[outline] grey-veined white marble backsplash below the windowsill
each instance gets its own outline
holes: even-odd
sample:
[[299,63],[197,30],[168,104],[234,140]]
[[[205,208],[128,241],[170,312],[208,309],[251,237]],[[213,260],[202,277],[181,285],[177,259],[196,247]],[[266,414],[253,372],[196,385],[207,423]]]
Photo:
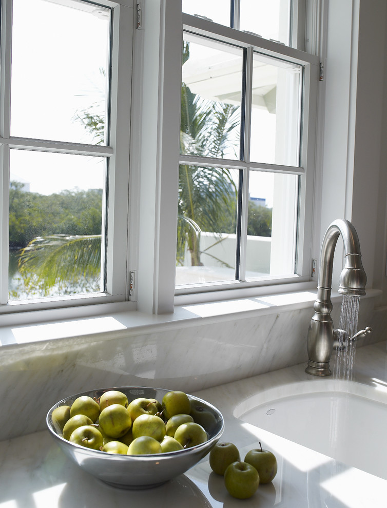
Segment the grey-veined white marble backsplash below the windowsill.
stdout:
[[[359,346],[385,340],[385,309],[360,306],[359,329],[374,333]],[[338,320],[334,309],[334,322]],[[48,409],[88,389],[158,386],[188,393],[307,362],[313,309],[230,318],[101,341],[55,340],[0,348],[0,440],[45,428]]]

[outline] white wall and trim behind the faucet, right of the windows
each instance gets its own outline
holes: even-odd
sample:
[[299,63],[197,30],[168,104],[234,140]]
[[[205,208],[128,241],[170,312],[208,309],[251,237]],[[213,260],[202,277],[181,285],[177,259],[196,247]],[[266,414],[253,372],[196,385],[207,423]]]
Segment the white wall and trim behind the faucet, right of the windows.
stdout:
[[[320,88],[325,123],[317,178],[322,207],[319,245],[333,220],[350,220],[358,232],[367,287],[374,288],[385,284],[386,7],[385,0],[325,2],[328,36]],[[339,241],[334,287],[341,270],[340,246]],[[318,248],[314,246],[315,252]],[[383,301],[386,298],[385,294]]]

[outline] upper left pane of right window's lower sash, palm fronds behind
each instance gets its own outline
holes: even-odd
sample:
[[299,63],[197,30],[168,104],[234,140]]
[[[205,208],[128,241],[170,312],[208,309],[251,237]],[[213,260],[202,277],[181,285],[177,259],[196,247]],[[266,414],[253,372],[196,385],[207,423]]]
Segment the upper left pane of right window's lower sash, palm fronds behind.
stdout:
[[239,159],[242,50],[186,35],[183,49],[181,152]]

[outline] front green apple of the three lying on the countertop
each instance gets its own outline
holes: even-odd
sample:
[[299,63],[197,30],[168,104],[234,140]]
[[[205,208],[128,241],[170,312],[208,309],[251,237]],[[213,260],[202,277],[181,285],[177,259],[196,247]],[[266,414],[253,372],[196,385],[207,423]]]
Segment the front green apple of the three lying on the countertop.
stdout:
[[248,499],[258,489],[259,474],[247,462],[232,462],[224,473],[224,484],[228,493],[237,499]]

